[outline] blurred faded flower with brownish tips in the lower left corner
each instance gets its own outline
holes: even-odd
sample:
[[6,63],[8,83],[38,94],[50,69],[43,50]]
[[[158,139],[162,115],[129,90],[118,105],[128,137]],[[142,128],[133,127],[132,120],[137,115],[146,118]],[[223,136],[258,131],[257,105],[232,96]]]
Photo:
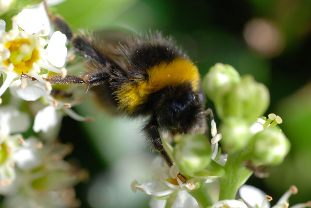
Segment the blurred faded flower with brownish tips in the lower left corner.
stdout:
[[[79,207],[80,202],[75,198],[72,186],[84,180],[87,173],[63,160],[72,146],[59,143],[43,146],[39,140],[29,139],[28,153],[25,150],[19,152],[19,156],[26,158],[23,159],[24,164],[18,164],[21,168],[17,175],[18,188],[14,194],[5,197],[4,207]],[[29,157],[29,154],[33,155]],[[31,161],[35,165],[30,164]],[[31,167],[26,167],[29,164]]]

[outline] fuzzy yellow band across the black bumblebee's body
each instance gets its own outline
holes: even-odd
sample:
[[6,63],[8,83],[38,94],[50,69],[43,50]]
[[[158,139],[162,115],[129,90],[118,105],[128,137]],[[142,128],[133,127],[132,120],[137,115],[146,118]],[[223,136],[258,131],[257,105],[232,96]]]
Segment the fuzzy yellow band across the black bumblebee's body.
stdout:
[[122,84],[121,88],[116,91],[120,109],[132,113],[137,106],[146,102],[150,94],[167,86],[189,82],[192,84],[193,91],[197,91],[200,87],[200,74],[197,66],[182,58],[153,66],[147,74],[149,76],[147,80],[134,78],[131,82]]

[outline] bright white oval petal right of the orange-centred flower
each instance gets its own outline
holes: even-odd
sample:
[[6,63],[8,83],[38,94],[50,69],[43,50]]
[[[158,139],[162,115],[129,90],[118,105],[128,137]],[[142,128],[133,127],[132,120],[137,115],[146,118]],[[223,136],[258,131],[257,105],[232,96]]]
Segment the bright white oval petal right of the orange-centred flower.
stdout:
[[45,51],[47,53],[46,60],[48,60],[55,67],[62,67],[65,64],[67,56],[66,35],[56,31],[53,33],[48,46]]

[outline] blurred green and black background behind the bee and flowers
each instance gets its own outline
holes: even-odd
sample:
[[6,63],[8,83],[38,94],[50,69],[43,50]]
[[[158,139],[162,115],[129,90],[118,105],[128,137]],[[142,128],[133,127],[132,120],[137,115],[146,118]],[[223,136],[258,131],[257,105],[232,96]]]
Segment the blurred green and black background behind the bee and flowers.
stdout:
[[[222,62],[263,82],[271,93],[267,114],[283,118],[280,126],[292,149],[281,166],[267,169],[270,178],[252,177],[248,184],[272,196],[272,204],[290,185],[299,190],[290,205],[311,200],[310,0],[67,0],[53,12],[74,31],[161,30],[188,51],[202,75]],[[142,121],[112,117],[91,100],[76,110],[95,118],[93,123],[64,118],[60,134],[75,146],[69,159],[90,171],[89,183],[77,186],[82,207],[147,207],[149,196],[130,189],[135,179],[151,179],[156,155],[144,148]]]

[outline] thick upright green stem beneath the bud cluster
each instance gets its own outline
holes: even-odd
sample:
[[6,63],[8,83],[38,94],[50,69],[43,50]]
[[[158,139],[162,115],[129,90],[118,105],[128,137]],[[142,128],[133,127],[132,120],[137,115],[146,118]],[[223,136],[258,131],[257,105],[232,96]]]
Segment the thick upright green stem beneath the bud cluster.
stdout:
[[219,200],[235,199],[245,169],[240,153],[228,154],[224,169],[225,174],[219,178]]

